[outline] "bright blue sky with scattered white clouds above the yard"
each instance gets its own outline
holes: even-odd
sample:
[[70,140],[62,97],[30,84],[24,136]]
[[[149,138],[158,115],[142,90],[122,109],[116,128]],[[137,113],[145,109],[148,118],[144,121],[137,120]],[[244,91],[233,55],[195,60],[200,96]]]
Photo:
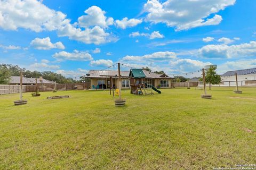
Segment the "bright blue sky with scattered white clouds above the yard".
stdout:
[[169,75],[208,64],[248,69],[255,8],[251,0],[0,1],[0,63],[66,77],[117,62]]

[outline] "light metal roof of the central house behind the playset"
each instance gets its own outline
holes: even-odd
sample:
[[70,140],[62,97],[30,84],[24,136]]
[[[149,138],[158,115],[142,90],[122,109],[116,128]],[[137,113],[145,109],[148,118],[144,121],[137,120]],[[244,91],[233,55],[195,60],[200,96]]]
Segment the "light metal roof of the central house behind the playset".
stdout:
[[[152,78],[152,79],[170,79],[168,75],[165,74],[157,74],[153,73],[147,70],[142,70],[143,73],[146,75],[146,78]],[[130,71],[121,71],[121,77],[129,77]],[[117,70],[90,70],[89,71],[88,78],[102,78],[102,77],[118,77],[118,71]]]

